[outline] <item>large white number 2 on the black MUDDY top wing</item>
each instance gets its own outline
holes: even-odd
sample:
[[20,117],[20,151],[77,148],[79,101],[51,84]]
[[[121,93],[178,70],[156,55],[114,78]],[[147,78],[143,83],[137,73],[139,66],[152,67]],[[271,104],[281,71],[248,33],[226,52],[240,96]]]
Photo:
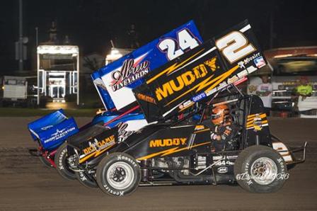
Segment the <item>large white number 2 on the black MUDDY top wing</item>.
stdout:
[[256,50],[243,33],[238,31],[224,35],[216,41],[216,46],[231,64]]

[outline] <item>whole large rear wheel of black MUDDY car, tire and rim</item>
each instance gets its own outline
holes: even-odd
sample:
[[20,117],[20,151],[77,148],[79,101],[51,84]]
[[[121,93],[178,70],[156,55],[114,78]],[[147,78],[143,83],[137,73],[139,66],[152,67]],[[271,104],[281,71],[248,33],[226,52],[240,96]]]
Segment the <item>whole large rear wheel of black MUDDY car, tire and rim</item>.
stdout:
[[234,175],[238,184],[252,193],[276,192],[289,176],[282,156],[270,147],[259,145],[238,155]]

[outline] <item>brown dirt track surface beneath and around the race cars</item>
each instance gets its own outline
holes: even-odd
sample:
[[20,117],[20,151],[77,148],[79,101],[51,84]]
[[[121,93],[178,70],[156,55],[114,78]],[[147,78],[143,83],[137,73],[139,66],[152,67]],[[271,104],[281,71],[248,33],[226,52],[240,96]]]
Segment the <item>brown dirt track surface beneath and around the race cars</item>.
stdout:
[[[272,119],[271,132],[287,145],[309,142],[306,162],[292,169],[282,190],[247,193],[238,186],[141,187],[113,198],[28,154],[35,143],[27,123],[35,118],[0,118],[0,210],[317,210],[317,120]],[[79,125],[90,118],[77,118]]]

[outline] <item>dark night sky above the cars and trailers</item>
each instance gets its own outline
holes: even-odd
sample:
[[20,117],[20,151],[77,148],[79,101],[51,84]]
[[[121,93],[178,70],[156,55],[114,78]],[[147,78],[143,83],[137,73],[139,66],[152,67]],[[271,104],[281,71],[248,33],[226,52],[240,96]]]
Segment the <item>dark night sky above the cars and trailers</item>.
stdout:
[[[158,38],[183,23],[195,21],[202,38],[208,40],[226,28],[248,18],[263,49],[270,48],[270,16],[275,32],[273,47],[317,45],[317,1],[119,1],[54,0],[23,1],[24,35],[28,37],[28,62],[34,69],[35,27],[40,42],[48,40],[52,21],[58,38],[69,35],[79,45],[81,55],[105,55],[110,39],[117,47],[127,47],[127,30],[134,23],[141,45]],[[0,72],[17,69],[14,42],[18,40],[18,0],[0,2]]]

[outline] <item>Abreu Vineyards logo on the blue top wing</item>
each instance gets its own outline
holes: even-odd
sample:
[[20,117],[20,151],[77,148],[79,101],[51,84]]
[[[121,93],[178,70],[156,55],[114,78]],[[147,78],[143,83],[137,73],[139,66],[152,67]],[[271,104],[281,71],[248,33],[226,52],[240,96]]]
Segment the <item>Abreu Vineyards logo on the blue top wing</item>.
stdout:
[[150,62],[147,60],[141,62],[148,53],[149,52],[146,52],[137,59],[126,59],[122,67],[111,74],[113,81],[110,86],[113,91],[132,84],[134,81],[141,79],[144,75],[149,73]]

